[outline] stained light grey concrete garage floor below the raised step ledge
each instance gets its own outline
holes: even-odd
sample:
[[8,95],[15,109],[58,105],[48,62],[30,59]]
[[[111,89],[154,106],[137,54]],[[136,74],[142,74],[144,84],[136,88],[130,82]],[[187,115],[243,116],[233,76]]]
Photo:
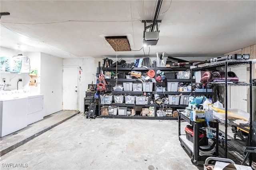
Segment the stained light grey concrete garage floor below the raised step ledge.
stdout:
[[180,146],[177,121],[85,119],[82,113],[4,154],[0,162],[2,170],[202,169]]

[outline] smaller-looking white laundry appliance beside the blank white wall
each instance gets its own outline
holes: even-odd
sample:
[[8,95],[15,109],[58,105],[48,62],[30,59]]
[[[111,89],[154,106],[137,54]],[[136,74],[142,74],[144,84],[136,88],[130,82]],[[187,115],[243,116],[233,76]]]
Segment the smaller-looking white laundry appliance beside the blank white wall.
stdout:
[[28,116],[27,124],[30,125],[36,121],[40,121],[44,118],[43,116],[43,102],[44,95],[33,95],[28,96]]

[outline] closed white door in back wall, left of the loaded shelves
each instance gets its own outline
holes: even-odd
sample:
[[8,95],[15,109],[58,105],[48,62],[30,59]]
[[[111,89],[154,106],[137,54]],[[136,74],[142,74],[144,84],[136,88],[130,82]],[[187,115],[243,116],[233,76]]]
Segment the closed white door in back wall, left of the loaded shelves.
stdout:
[[78,67],[63,67],[63,110],[78,110]]

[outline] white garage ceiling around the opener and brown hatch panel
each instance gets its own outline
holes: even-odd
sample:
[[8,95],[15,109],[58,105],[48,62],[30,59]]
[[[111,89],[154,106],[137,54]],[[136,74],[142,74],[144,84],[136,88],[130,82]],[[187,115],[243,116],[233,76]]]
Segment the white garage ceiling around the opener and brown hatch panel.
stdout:
[[[116,56],[105,36],[127,35],[131,49],[143,46],[144,23],[156,0],[1,0],[2,47],[23,44],[61,58]],[[159,41],[150,56],[220,56],[256,44],[256,1],[164,0]],[[21,35],[24,36],[21,36]],[[26,38],[27,37],[27,38]],[[148,55],[149,47],[144,47]],[[118,52],[136,57],[143,51]]]

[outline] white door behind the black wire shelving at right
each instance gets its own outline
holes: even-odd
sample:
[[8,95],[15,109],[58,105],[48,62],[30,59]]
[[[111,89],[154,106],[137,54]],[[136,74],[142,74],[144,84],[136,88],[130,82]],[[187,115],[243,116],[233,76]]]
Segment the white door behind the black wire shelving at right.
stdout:
[[[230,68],[236,73],[239,82],[246,82],[246,65]],[[247,88],[248,86],[230,86],[230,107],[247,111]]]

